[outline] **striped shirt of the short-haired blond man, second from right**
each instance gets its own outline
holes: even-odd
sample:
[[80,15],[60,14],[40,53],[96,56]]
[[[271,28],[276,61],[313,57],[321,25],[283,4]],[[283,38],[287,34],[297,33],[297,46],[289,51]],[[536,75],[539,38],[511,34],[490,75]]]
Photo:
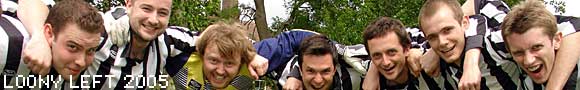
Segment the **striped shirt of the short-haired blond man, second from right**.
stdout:
[[[481,48],[479,67],[481,71],[482,90],[516,90],[521,85],[517,64],[508,57],[501,31],[488,25],[488,18],[482,15],[469,17],[470,26],[465,31],[465,51],[473,48]],[[460,58],[464,58],[464,53]],[[420,78],[421,89],[458,89],[457,85],[463,74],[463,66],[440,62],[439,77]],[[436,85],[434,84],[436,83]]]

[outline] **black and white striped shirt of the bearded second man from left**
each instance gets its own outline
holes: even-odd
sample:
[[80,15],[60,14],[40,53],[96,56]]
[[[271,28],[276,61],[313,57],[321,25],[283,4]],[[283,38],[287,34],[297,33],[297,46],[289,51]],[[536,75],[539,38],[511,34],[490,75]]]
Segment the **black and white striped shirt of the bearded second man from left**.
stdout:
[[[110,21],[115,21],[128,18],[125,8],[120,7],[111,9],[103,17],[105,22],[110,19],[114,19]],[[105,27],[107,25],[110,24],[105,23]],[[127,30],[132,33],[130,28]],[[159,81],[158,78],[163,77],[160,75],[169,75],[171,77],[183,67],[187,59],[175,59],[175,57],[191,55],[195,51],[196,38],[197,33],[191,32],[187,28],[170,26],[163,34],[150,41],[145,50],[143,60],[134,60],[129,58],[130,43],[117,46],[112,43],[111,38],[106,33],[103,33],[101,43],[97,48],[98,51],[95,54],[95,60],[82,73],[84,75],[103,76],[94,79],[85,78],[85,81],[89,81],[88,84],[93,89],[145,89],[149,88],[148,86],[168,86],[167,82]],[[104,77],[104,75],[113,75],[113,77]],[[157,82],[136,78],[138,76],[148,77],[147,80],[155,79]],[[91,82],[100,83],[93,85]],[[146,85],[143,83],[146,83]],[[80,85],[79,81],[75,85]]]

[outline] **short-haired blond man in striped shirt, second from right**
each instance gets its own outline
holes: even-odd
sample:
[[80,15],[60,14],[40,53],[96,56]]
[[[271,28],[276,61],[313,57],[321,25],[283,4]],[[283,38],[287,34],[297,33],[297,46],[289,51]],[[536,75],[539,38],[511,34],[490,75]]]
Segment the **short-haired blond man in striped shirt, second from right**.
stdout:
[[[442,58],[440,76],[427,79],[427,83],[437,83],[430,87],[467,90],[520,88],[521,72],[508,58],[503,42],[498,42],[501,41],[499,30],[488,26],[487,17],[479,14],[465,16],[456,0],[429,0],[421,8],[419,24],[432,51]],[[479,57],[466,58],[470,55]],[[478,67],[473,68],[474,65]],[[465,76],[463,73],[473,73],[473,70],[465,71],[464,67],[472,67],[481,74]],[[479,79],[481,82],[472,82]],[[468,82],[463,82],[465,80]]]

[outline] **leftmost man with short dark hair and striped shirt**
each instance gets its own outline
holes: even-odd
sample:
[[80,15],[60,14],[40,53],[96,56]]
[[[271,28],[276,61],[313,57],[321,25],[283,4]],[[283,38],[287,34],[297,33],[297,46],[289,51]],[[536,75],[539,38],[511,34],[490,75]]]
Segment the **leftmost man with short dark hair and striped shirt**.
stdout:
[[[6,32],[5,35],[8,36],[7,42],[0,43],[0,46],[1,48],[9,47],[8,49],[0,49],[0,52],[4,52],[2,57],[7,57],[2,58],[5,63],[0,64],[0,68],[3,68],[1,76],[6,76],[0,79],[2,81],[0,84],[7,85],[2,88],[29,88],[10,87],[24,83],[18,82],[16,75],[34,75],[34,77],[40,78],[32,72],[39,68],[30,68],[30,65],[24,64],[20,59],[21,54],[18,49],[22,49],[22,46],[28,44],[29,36],[17,19],[2,15],[0,22],[2,22],[2,32]],[[80,0],[61,1],[50,9],[43,28],[43,34],[52,50],[52,63],[54,64],[49,75],[52,75],[53,78],[60,78],[58,75],[61,75],[64,81],[58,82],[59,85],[42,86],[43,88],[70,88],[66,87],[68,84],[65,83],[77,81],[79,75],[82,74],[81,72],[93,62],[95,50],[101,40],[100,35],[105,31],[103,22],[104,20],[96,8]]]

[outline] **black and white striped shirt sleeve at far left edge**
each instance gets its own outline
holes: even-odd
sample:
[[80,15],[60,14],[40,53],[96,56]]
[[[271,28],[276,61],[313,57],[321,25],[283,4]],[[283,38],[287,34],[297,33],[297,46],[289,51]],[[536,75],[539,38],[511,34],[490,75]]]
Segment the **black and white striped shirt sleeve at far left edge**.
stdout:
[[32,75],[21,58],[22,50],[30,40],[30,36],[22,23],[12,16],[3,14],[0,26],[0,70],[2,70],[0,85],[14,86],[18,75]]

